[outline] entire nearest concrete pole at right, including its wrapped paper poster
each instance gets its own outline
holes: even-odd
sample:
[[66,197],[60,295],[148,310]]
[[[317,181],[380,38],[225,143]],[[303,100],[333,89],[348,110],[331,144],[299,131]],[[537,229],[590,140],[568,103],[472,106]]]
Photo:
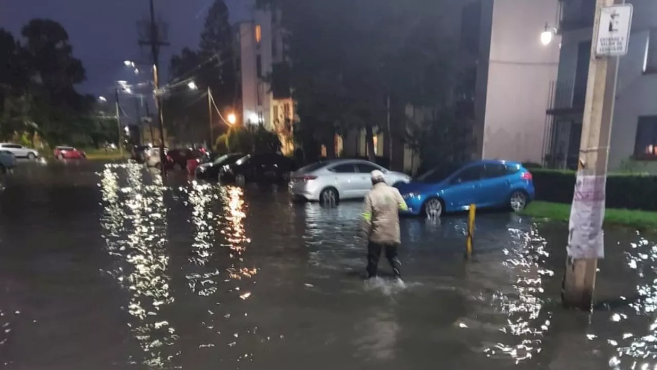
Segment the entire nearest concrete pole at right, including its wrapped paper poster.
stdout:
[[[581,142],[579,144],[578,185],[576,186],[576,195],[573,200],[573,211],[571,211],[568,238],[569,255],[566,259],[566,274],[562,288],[562,302],[566,307],[574,307],[586,311],[590,310],[593,304],[598,258],[601,255],[591,253],[585,258],[581,258],[581,255],[571,255],[570,248],[573,248],[571,238],[574,234],[590,236],[590,234],[585,233],[583,226],[593,229],[597,228],[597,225],[600,224],[601,228],[602,218],[604,217],[604,182],[606,181],[612,121],[614,117],[618,56],[598,56],[597,41],[599,38],[602,9],[614,5],[614,3],[622,4],[624,1],[597,0],[595,3],[591,61],[589,64],[589,77],[581,128]],[[606,27],[606,24],[603,26]],[[587,176],[589,178],[595,178],[592,183],[594,185],[582,185],[580,189],[580,184],[587,182],[585,179]],[[589,202],[589,207],[591,208],[587,214],[581,213],[578,215],[579,210],[576,208],[578,193],[586,194],[579,195],[581,198],[579,200],[582,203]],[[598,203],[596,204],[596,202]],[[602,215],[599,213],[602,213]],[[602,230],[595,231],[602,233]],[[603,243],[601,234],[600,238],[594,243],[599,246],[600,250],[604,248],[599,245]]]

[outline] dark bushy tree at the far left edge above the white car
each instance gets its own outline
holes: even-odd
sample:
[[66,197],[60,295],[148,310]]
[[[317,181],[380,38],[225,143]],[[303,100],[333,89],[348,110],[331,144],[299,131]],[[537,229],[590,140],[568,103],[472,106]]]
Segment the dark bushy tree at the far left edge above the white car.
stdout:
[[35,134],[51,145],[89,143],[95,99],[75,86],[85,70],[61,24],[33,19],[21,40],[0,29],[0,138]]

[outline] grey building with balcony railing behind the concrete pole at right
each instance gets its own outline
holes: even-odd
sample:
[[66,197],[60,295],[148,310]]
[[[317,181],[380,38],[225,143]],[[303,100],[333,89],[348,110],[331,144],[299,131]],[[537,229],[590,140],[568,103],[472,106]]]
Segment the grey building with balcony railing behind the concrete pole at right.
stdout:
[[[627,55],[620,57],[610,171],[657,173],[657,1],[627,0],[634,7]],[[586,96],[595,0],[560,0],[561,55],[550,86],[545,164],[575,169]],[[630,168],[631,167],[631,168]]]

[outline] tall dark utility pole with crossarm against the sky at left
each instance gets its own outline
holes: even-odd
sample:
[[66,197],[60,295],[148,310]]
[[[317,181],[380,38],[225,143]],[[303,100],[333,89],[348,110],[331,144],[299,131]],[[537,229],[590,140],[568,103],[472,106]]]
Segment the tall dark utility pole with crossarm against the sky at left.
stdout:
[[[155,21],[155,6],[153,0],[148,1],[150,18],[143,24],[143,30],[140,30],[139,45],[150,46],[150,53],[153,62],[153,88],[155,91],[155,107],[158,111],[158,126],[160,129],[160,160],[164,161],[164,114],[162,112],[162,99],[160,92],[160,47],[169,45],[164,39],[165,34],[160,32],[160,24]],[[166,180],[166,169],[162,163],[162,178]]]

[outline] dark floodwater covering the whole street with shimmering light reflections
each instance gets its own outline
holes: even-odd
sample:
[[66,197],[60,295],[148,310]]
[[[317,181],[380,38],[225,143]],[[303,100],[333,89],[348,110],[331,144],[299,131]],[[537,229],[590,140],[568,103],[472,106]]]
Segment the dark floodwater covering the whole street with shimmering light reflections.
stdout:
[[291,203],[139,165],[0,180],[6,369],[657,369],[656,236],[607,230],[593,313],[559,293],[564,225],[403,219],[405,284],[365,282],[359,203]]

